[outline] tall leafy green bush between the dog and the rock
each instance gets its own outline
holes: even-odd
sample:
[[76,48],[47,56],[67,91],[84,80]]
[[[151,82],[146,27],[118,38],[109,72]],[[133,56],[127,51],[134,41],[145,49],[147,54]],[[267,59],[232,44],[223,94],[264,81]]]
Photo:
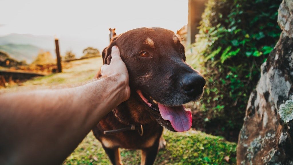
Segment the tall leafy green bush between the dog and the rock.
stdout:
[[260,78],[260,65],[280,36],[280,3],[208,1],[188,57],[207,80],[200,105],[206,132],[237,140],[249,95]]

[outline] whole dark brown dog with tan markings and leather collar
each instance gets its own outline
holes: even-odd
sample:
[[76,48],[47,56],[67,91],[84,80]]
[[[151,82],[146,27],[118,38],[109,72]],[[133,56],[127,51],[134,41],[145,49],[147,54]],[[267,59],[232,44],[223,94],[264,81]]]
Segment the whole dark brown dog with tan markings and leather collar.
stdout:
[[122,164],[119,148],[141,149],[141,164],[153,164],[163,127],[175,132],[190,129],[191,112],[183,104],[202,96],[205,79],[185,62],[184,46],[173,31],[127,31],[103,50],[104,64],[110,63],[114,45],[127,66],[131,95],[93,133],[113,164]]

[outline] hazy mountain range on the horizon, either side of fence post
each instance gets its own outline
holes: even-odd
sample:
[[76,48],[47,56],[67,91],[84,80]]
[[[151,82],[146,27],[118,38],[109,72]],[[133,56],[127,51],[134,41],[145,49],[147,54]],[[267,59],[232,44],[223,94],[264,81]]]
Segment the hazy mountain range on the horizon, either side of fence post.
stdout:
[[[93,38],[61,36],[59,38],[60,53],[62,56],[64,56],[66,51],[71,50],[76,55],[76,57],[79,58],[83,55],[83,50],[85,48],[97,48],[101,45],[99,44],[102,41],[100,38]],[[6,36],[0,36],[0,46],[4,46],[5,50],[4,48],[1,49],[9,53],[11,57],[14,57],[16,59],[25,59],[28,63],[33,60],[31,57],[35,57],[38,55],[38,51],[40,49],[49,50],[52,53],[52,55],[55,55],[54,36],[39,36],[32,34],[12,33]],[[7,48],[7,46],[11,49]],[[29,50],[29,46],[32,46],[30,47],[32,49],[31,51]],[[104,48],[105,46],[101,47]],[[21,53],[23,53],[23,56],[21,55]]]

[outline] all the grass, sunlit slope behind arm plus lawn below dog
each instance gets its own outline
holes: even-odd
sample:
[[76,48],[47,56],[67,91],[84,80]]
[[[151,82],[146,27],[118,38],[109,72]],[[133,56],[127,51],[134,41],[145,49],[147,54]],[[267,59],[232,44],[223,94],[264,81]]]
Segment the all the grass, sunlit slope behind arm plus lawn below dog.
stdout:
[[[65,63],[63,73],[28,80],[21,85],[9,85],[1,92],[44,88],[62,88],[80,85],[93,79],[102,65],[101,57]],[[165,130],[167,147],[159,151],[155,164],[236,164],[236,144],[222,137],[190,130],[175,133]],[[140,151],[121,150],[124,164],[140,164]],[[229,157],[229,162],[226,159]],[[90,132],[63,164],[110,164],[100,142]]]

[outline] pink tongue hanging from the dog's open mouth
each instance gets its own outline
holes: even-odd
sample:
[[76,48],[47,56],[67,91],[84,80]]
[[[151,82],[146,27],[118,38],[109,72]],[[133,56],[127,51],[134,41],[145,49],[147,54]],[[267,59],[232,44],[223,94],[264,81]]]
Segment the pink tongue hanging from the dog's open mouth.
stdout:
[[167,107],[158,103],[160,114],[164,120],[169,120],[177,132],[188,131],[192,125],[191,111],[183,105]]

